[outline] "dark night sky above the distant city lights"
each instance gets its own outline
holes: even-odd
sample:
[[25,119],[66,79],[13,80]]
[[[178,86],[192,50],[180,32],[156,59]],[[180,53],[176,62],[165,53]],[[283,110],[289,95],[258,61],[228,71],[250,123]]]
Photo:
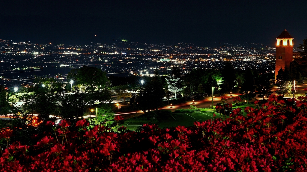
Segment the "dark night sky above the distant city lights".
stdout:
[[307,37],[306,7],[306,0],[9,0],[0,3],[0,39],[54,44],[128,39],[274,46],[276,37],[287,29],[297,47]]

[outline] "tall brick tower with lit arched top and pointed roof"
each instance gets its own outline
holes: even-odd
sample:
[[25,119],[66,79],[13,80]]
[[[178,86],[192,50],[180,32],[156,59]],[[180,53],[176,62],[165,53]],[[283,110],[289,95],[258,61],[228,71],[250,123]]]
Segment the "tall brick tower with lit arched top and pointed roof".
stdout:
[[278,70],[290,70],[290,63],[293,61],[293,37],[285,29],[276,39],[275,80]]

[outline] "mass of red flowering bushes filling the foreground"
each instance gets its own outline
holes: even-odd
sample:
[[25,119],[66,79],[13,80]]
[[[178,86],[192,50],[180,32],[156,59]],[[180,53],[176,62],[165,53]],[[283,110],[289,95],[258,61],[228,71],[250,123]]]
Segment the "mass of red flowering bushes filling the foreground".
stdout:
[[[3,171],[307,171],[307,97],[287,106],[268,102],[240,108],[229,118],[195,122],[193,127],[139,132],[63,120],[36,145],[16,141],[2,149]],[[292,99],[287,101],[293,101]],[[120,120],[120,117],[117,117]],[[46,127],[55,126],[47,122]],[[75,128],[75,129],[74,129]],[[77,129],[76,129],[77,128]],[[10,139],[11,133],[1,133]]]

